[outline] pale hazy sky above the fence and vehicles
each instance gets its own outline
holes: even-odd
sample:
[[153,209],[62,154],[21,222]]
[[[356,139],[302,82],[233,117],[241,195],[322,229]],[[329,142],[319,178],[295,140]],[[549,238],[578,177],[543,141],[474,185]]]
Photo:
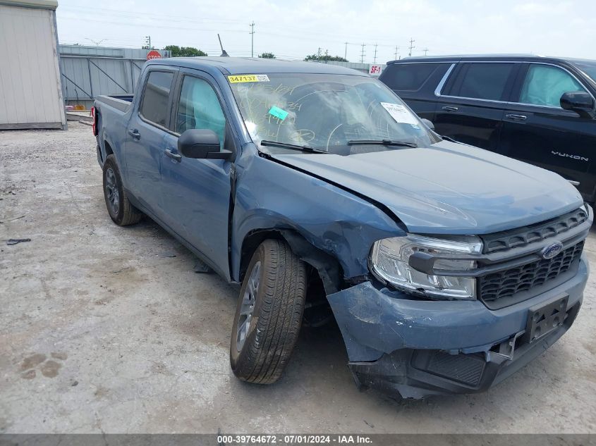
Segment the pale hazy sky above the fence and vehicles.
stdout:
[[412,56],[596,59],[595,18],[594,0],[59,0],[57,10],[65,44],[140,48],[150,35],[155,48],[173,44],[219,56],[219,32],[230,56],[251,56],[254,37],[255,56],[303,59],[321,49],[366,63],[408,56],[410,39]]

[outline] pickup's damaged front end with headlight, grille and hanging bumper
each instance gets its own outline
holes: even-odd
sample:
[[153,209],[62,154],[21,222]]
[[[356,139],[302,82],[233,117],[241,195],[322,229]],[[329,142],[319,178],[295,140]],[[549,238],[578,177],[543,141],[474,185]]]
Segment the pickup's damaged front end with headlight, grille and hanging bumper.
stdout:
[[327,296],[358,385],[404,398],[499,383],[571,327],[592,210],[461,238],[375,242],[374,278]]

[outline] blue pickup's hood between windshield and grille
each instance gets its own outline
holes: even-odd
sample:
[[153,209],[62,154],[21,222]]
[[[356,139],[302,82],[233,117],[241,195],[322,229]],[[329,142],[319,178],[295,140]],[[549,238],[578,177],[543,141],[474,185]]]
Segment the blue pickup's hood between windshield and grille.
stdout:
[[556,173],[448,141],[350,156],[272,157],[384,204],[412,233],[494,233],[583,204]]

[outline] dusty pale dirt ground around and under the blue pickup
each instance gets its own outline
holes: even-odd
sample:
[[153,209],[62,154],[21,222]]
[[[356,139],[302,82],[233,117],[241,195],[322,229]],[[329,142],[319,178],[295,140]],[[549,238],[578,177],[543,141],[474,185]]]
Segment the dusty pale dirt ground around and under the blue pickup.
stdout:
[[332,326],[249,385],[229,367],[236,287],[152,221],[114,225],[91,129],[69,125],[0,132],[0,433],[596,433],[596,275],[571,330],[480,395],[360,392]]

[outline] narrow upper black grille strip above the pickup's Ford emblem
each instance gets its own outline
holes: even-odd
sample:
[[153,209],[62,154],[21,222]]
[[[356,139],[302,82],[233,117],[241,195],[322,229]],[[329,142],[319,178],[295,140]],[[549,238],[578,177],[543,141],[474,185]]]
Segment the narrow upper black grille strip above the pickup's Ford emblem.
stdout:
[[525,246],[533,242],[540,242],[540,240],[554,237],[571,228],[575,228],[586,220],[588,220],[588,213],[585,209],[580,208],[563,216],[542,221],[541,223],[501,231],[500,233],[481,235],[480,237],[484,242],[485,254],[489,254],[491,252]]

